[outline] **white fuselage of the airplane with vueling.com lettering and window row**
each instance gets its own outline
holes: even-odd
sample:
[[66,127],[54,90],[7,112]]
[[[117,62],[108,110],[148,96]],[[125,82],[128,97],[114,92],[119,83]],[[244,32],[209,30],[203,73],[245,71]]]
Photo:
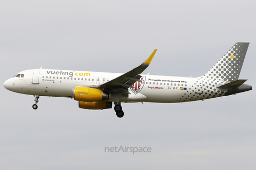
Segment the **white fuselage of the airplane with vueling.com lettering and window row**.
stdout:
[[[86,72],[70,70],[35,69],[26,70],[6,80],[5,88],[27,95],[73,97],[75,87],[93,87],[122,75],[122,73]],[[142,81],[129,88],[129,97],[119,96],[122,102],[179,103],[222,96],[224,91],[216,88],[223,82],[199,81],[199,78],[143,75]],[[212,84],[211,84],[212,83]],[[215,84],[215,86],[214,86]],[[196,93],[196,91],[198,92]],[[226,90],[225,90],[226,91]],[[109,101],[114,101],[109,99]]]

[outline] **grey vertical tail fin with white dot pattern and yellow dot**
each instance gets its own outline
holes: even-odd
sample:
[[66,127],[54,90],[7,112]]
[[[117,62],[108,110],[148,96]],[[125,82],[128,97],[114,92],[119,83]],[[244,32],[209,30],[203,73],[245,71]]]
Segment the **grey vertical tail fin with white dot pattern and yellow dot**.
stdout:
[[233,45],[202,79],[238,80],[248,46],[249,43],[240,42]]

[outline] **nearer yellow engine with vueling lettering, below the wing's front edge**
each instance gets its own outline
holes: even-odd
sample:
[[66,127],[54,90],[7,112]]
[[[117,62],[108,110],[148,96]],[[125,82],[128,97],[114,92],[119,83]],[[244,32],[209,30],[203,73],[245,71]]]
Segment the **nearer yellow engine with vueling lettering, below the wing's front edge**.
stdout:
[[104,101],[109,99],[109,94],[99,89],[76,87],[74,99],[77,101]]

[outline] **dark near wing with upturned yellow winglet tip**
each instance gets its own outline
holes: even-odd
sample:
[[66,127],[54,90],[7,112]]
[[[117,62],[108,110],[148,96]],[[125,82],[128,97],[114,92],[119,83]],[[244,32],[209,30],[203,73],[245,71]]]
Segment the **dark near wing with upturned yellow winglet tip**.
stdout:
[[107,88],[108,91],[117,92],[121,91],[122,94],[130,94],[128,88],[133,88],[132,84],[141,81],[141,74],[147,67],[149,66],[150,62],[152,61],[154,55],[156,54],[156,50],[143,62],[140,66],[135,67],[131,71],[113,79],[106,83],[100,84],[99,88]]

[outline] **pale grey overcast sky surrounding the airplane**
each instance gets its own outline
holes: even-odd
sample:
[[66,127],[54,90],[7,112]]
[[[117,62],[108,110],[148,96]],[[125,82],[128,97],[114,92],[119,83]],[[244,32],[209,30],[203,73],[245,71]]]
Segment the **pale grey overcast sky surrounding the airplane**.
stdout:
[[[237,41],[255,83],[255,1],[1,1],[1,82],[37,69],[126,72],[158,49],[155,75],[199,77]],[[1,88],[0,169],[255,169],[255,90],[89,111]],[[105,152],[105,147],[151,152]]]

